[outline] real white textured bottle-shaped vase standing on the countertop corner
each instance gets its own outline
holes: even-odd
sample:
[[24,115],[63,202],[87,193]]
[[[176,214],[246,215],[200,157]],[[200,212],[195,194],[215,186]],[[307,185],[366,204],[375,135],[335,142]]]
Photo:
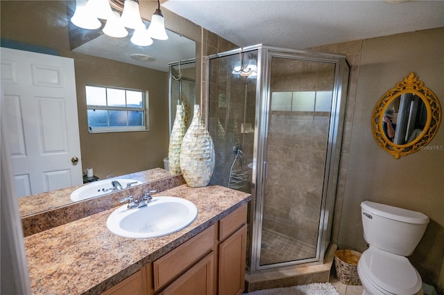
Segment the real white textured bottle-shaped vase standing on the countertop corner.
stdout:
[[185,133],[180,152],[180,169],[188,186],[207,186],[214,170],[214,144],[202,122],[199,105],[194,105],[194,117]]

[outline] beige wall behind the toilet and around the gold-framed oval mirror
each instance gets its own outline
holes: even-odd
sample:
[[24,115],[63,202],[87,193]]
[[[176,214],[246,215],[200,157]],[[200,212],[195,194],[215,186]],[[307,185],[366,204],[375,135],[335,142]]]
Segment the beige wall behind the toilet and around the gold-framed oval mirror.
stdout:
[[[444,28],[315,48],[346,53],[352,62],[347,124],[334,228],[339,247],[364,251],[360,203],[380,202],[429,216],[410,257],[422,280],[444,292],[444,150],[421,150],[395,160],[373,139],[370,121],[379,98],[413,72],[444,105]],[[444,146],[438,128],[431,146]]]

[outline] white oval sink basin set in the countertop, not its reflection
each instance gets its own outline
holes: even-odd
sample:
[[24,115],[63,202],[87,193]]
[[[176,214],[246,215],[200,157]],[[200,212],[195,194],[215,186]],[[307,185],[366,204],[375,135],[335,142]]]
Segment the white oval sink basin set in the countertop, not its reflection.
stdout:
[[106,221],[110,232],[123,238],[146,239],[176,233],[197,217],[196,206],[180,197],[153,197],[142,208],[117,208]]

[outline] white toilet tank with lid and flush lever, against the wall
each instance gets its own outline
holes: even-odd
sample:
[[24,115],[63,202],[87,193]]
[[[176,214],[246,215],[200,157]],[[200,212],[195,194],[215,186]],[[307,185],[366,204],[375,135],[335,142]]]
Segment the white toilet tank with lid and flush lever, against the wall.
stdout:
[[410,256],[429,223],[426,215],[370,201],[361,203],[366,242],[381,250]]

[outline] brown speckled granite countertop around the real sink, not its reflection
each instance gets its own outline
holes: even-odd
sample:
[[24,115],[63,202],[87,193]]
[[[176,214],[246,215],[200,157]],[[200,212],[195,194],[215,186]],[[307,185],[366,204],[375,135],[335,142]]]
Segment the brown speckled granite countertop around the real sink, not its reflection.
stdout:
[[193,202],[198,208],[196,220],[160,238],[121,238],[106,227],[112,208],[24,238],[33,294],[100,294],[251,199],[222,186],[186,184],[153,196],[162,195]]

